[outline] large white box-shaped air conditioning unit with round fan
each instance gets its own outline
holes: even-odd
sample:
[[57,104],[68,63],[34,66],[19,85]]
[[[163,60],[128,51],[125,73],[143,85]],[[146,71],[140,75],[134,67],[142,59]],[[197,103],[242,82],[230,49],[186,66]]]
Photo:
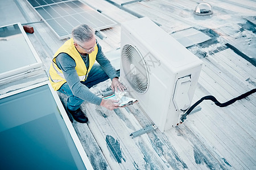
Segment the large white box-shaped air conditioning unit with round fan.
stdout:
[[202,62],[148,18],[121,24],[120,80],[160,131],[191,106]]

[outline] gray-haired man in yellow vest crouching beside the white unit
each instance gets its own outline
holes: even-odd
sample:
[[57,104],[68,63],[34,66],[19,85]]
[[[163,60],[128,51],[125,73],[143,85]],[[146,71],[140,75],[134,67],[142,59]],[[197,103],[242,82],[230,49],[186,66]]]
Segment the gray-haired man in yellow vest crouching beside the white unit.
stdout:
[[113,92],[125,90],[94,33],[94,29],[86,24],[73,28],[72,39],[57,50],[49,69],[49,81],[53,89],[69,96],[68,112],[81,123],[88,121],[80,109],[83,101],[101,105],[110,111],[119,105],[118,100],[105,100],[96,96],[89,91],[90,87],[110,78]]

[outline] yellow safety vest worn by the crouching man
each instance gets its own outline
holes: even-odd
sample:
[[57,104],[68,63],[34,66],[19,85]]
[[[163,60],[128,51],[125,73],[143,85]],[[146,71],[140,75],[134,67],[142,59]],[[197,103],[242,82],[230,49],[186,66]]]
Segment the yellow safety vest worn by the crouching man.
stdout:
[[92,69],[92,66],[96,60],[96,55],[98,53],[98,46],[96,45],[94,47],[94,51],[89,54],[89,69],[87,71],[84,61],[82,60],[82,57],[80,56],[79,52],[77,52],[77,49],[75,48],[73,39],[69,39],[66,41],[54,54],[54,57],[52,59],[52,63],[49,69],[49,82],[52,85],[53,90],[57,91],[60,89],[60,87],[67,82],[64,78],[63,72],[59,69],[59,67],[56,65],[56,57],[60,53],[67,53],[69,56],[71,56],[75,62],[76,62],[76,72],[79,75],[79,79],[81,81],[85,81],[87,79],[87,76],[89,74],[90,69]]

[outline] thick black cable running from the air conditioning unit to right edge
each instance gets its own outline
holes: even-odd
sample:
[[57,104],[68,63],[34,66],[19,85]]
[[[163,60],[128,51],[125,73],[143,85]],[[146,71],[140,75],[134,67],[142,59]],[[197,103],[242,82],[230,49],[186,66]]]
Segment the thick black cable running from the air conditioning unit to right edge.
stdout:
[[193,105],[187,110],[187,112],[185,112],[185,114],[183,114],[183,115],[181,116],[181,121],[184,122],[184,120],[187,118],[188,114],[189,114],[197,105],[199,105],[203,100],[212,100],[212,101],[214,102],[214,104],[216,104],[218,107],[226,107],[226,106],[228,106],[228,105],[230,105],[230,104],[235,103],[237,100],[241,100],[241,99],[243,99],[243,98],[245,98],[245,97],[247,97],[247,96],[249,96],[249,95],[251,95],[251,94],[253,94],[253,93],[255,93],[255,92],[256,92],[256,88],[254,88],[254,89],[251,90],[251,91],[246,92],[245,94],[242,94],[242,95],[240,95],[240,96],[238,96],[238,97],[235,97],[234,99],[231,99],[231,100],[229,100],[229,101],[226,101],[225,103],[220,103],[214,96],[211,96],[211,95],[209,95],[209,96],[204,96],[204,97],[202,97],[199,101],[197,101],[195,104],[193,104]]

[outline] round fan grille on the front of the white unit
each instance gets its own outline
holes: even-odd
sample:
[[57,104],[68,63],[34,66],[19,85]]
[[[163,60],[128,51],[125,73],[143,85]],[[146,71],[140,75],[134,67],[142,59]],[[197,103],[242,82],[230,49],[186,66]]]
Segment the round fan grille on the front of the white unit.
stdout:
[[121,57],[126,79],[135,91],[143,94],[148,87],[148,71],[141,53],[134,46],[126,44],[123,46]]

